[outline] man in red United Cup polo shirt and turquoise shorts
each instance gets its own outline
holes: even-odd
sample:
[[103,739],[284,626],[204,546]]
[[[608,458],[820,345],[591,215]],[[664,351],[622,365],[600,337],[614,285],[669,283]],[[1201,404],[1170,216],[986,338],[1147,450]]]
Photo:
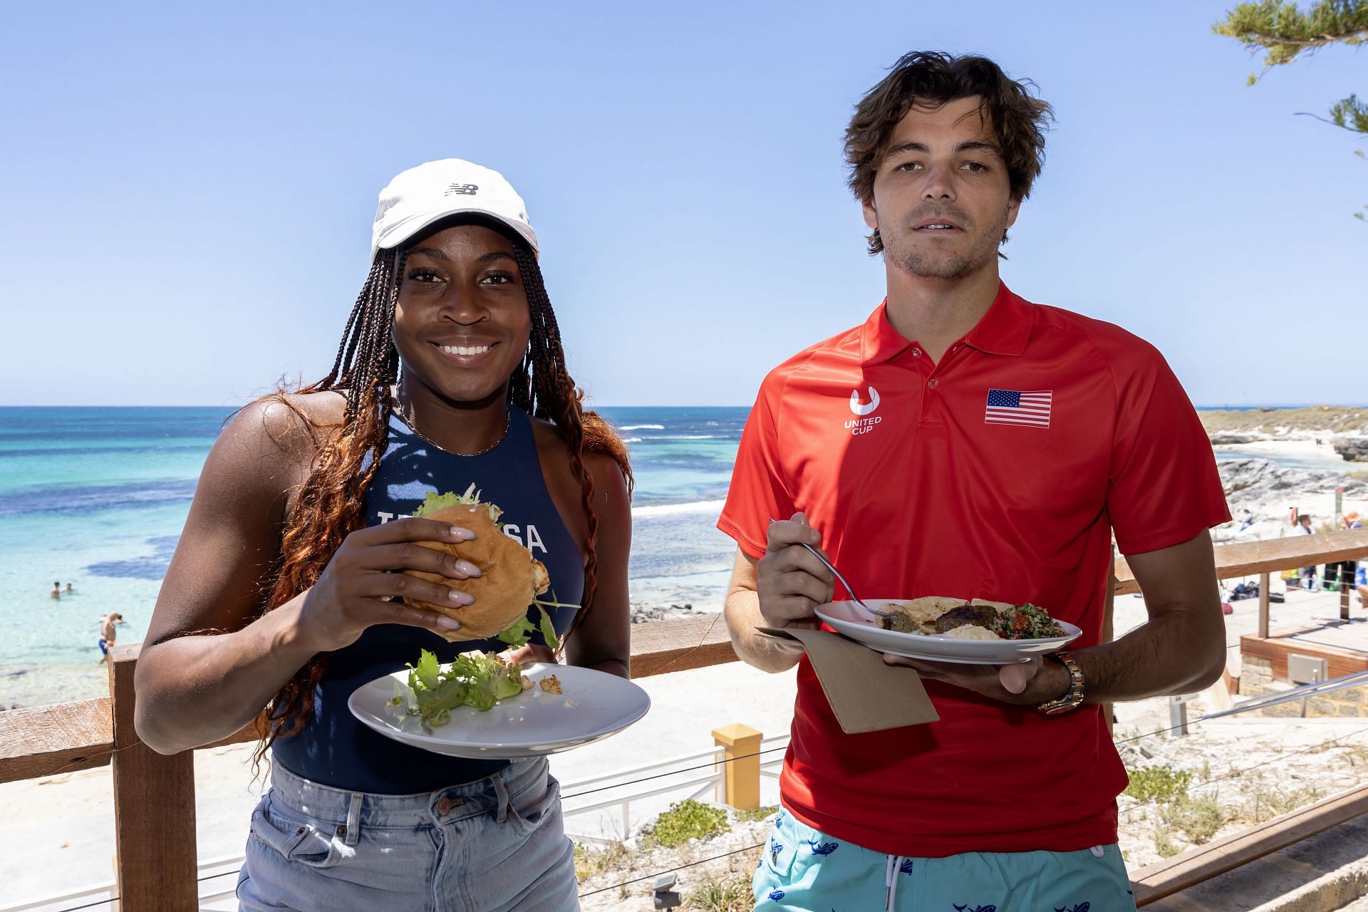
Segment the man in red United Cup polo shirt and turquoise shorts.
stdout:
[[[1134,908],[1100,704],[1220,674],[1207,529],[1230,514],[1187,397],[1144,340],[997,275],[1048,116],[990,60],[911,53],[847,130],[888,297],[769,373],[718,522],[739,546],[737,655],[799,663],[758,909]],[[1114,535],[1149,621],[1103,644]],[[802,652],[755,630],[818,626],[833,599],[800,541],[865,598],[1030,602],[1083,633],[1029,665],[885,656],[921,673],[940,721],[845,734]]]

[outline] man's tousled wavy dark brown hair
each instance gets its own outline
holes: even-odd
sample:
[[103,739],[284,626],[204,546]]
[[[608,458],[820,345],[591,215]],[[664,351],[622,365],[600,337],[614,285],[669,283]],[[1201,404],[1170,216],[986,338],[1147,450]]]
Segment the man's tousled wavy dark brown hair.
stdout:
[[[1011,194],[1025,200],[1045,163],[1045,130],[1053,116],[1051,107],[1029,92],[1034,88],[1029,79],[1010,79],[988,57],[956,57],[944,51],[903,55],[859,100],[845,127],[851,190],[860,202],[874,198],[874,172],[884,163],[893,130],[912,105],[938,108],[978,96],[982,98],[978,113],[992,124],[1007,163]],[[882,249],[876,228],[869,237],[869,252]]]

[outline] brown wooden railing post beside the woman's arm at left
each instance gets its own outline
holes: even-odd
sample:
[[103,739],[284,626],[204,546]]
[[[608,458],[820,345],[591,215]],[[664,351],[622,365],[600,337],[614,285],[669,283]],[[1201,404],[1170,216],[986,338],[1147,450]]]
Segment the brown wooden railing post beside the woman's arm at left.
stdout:
[[137,655],[137,645],[109,649],[116,908],[193,912],[200,907],[194,752],[163,756],[138,740],[133,727]]

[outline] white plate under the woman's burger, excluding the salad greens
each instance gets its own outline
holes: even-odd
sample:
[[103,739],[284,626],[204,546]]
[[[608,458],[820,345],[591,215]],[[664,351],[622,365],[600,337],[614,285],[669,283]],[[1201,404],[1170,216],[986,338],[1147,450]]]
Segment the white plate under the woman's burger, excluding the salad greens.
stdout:
[[[532,680],[531,690],[495,703],[488,712],[468,706],[453,710],[451,721],[431,734],[416,715],[405,712],[413,700],[408,669],[361,685],[347,700],[347,708],[380,734],[424,751],[508,760],[560,753],[606,738],[651,708],[646,690],[606,671],[531,662],[523,666],[523,674]],[[536,681],[549,674],[561,681],[560,695],[538,686]],[[404,696],[405,701],[390,706],[395,696]]]

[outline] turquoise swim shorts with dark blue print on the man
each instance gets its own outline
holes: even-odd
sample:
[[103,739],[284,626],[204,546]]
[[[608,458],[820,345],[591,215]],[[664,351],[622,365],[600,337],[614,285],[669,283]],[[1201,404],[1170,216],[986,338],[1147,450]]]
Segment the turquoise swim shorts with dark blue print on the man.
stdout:
[[780,811],[752,882],[757,912],[1133,912],[1120,849],[882,855]]

